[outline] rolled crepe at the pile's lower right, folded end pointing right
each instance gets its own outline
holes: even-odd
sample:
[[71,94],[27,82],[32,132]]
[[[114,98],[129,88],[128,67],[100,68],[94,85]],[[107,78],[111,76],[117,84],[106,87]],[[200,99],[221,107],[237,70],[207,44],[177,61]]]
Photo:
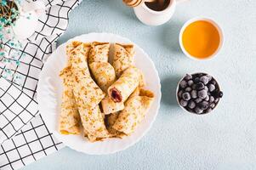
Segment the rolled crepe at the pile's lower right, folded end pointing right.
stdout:
[[127,135],[133,133],[150,109],[153,100],[154,94],[144,89],[140,89],[139,95],[131,95],[112,128]]

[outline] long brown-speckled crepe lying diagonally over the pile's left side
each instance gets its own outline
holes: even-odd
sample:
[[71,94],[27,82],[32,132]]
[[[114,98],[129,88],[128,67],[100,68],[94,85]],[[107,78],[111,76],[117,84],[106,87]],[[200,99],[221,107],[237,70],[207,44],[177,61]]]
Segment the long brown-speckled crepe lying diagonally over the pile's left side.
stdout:
[[[60,72],[60,77],[63,80],[68,80],[67,84],[70,84],[69,88],[71,88],[76,101],[84,135],[93,142],[110,137],[110,133],[106,130],[99,106],[101,99],[105,97],[105,93],[94,82],[88,71],[87,60],[90,48],[90,44],[81,43],[70,50],[67,55],[69,57],[68,61],[71,63],[68,63],[68,66]],[[63,74],[63,72],[69,74]],[[71,75],[71,78],[67,79],[66,75]],[[63,101],[65,100],[62,99]],[[61,109],[60,122],[64,109],[64,107]]]

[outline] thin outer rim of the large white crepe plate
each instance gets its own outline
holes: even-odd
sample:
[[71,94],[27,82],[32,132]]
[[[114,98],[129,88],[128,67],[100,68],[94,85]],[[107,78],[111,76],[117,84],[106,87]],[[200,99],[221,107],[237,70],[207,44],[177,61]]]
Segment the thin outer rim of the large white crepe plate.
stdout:
[[[112,36],[121,37],[121,36],[119,36],[119,35],[117,35],[117,34],[112,34],[112,33],[107,33],[107,32],[91,32],[91,33],[88,33],[88,34],[82,34],[82,35],[80,35],[80,36],[73,37],[73,38],[71,38],[70,40],[68,40],[67,42],[61,44],[60,46],[65,46],[66,43],[71,42],[71,41],[74,41],[74,40],[77,40],[77,39],[79,39],[79,37],[82,37],[82,36],[84,36],[84,35],[93,35],[93,34],[108,34],[108,35],[112,35]],[[130,41],[130,40],[129,40],[128,38],[126,38],[126,37],[122,37],[122,38],[123,38],[125,41],[127,41],[127,42],[132,42],[132,41]],[[134,43],[134,42],[132,42],[132,43]],[[134,43],[134,45],[136,45],[136,44]],[[60,46],[59,46],[58,48],[60,48]],[[136,46],[139,48],[138,45],[136,45]],[[156,116],[157,116],[158,111],[159,111],[159,108],[160,108],[160,102],[161,102],[161,98],[162,98],[161,83],[160,83],[159,74],[158,74],[158,72],[157,72],[157,70],[156,70],[156,65],[154,65],[152,59],[149,57],[148,54],[145,53],[145,51],[144,51],[142,48],[139,48],[139,49],[141,50],[141,52],[142,52],[143,54],[146,55],[147,59],[150,61],[151,65],[153,66],[153,69],[154,69],[154,71],[156,72],[156,76],[157,76],[156,82],[158,83],[158,87],[159,87],[159,91],[158,91],[159,98],[158,98],[158,100],[156,100],[156,105],[157,105],[157,106],[156,106],[156,114],[152,117],[152,120],[151,120],[149,126],[146,127],[145,131],[144,131],[143,133],[141,133],[141,135],[139,136],[138,139],[133,140],[130,144],[126,145],[125,147],[123,147],[122,149],[119,149],[119,150],[113,150],[113,151],[106,152],[106,153],[102,153],[102,152],[97,153],[97,152],[84,152],[84,151],[82,151],[82,150],[77,150],[77,149],[75,149],[75,148],[71,148],[71,149],[77,150],[77,151],[82,152],[82,153],[86,153],[86,154],[88,154],[88,155],[108,155],[108,154],[113,154],[113,153],[116,153],[116,152],[121,151],[121,150],[126,150],[126,149],[128,149],[128,147],[130,147],[130,146],[136,144],[137,142],[139,142],[140,139],[142,139],[142,138],[145,136],[145,133],[147,133],[147,132],[151,129],[152,124],[153,124],[153,122],[155,122]],[[54,55],[55,53],[56,53],[56,50],[55,50],[54,53],[51,54],[51,55]],[[49,60],[50,60],[50,59],[48,59],[44,65],[47,65],[47,63],[49,62]],[[40,90],[41,90],[40,80],[41,80],[42,72],[43,72],[43,71],[41,71],[41,73],[40,73],[40,75],[39,75],[39,81],[38,81],[38,87],[37,87],[37,94],[40,93]],[[40,99],[40,98],[37,98],[37,101],[38,101],[38,109],[39,109],[39,111],[40,111],[40,108],[41,108],[41,106],[40,106],[41,99]],[[43,116],[43,114],[42,114],[42,116]],[[43,117],[44,117],[44,116],[43,116]],[[48,124],[47,122],[45,122],[45,123]],[[56,132],[53,131],[53,133],[56,133]],[[54,135],[54,136],[56,136],[56,135]],[[56,137],[56,138],[57,138],[57,137]],[[57,138],[57,139],[58,139],[58,138]],[[65,144],[65,142],[63,142],[63,144]],[[65,145],[67,145],[67,144],[65,144]]]

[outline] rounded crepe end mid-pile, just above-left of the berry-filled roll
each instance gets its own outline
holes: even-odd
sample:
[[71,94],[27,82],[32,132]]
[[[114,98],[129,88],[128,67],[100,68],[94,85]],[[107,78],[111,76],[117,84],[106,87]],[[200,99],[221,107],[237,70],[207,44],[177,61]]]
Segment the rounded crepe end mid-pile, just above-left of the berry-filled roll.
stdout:
[[94,79],[100,88],[106,93],[107,88],[116,80],[116,74],[113,66],[105,62],[93,62],[89,65]]

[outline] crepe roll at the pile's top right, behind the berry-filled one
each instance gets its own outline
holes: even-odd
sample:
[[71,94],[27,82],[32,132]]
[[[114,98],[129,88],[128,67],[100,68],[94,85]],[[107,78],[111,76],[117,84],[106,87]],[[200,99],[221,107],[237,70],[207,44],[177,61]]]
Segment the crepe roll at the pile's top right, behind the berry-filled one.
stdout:
[[122,72],[132,65],[134,65],[134,45],[115,43],[113,67],[116,76],[120,77]]

